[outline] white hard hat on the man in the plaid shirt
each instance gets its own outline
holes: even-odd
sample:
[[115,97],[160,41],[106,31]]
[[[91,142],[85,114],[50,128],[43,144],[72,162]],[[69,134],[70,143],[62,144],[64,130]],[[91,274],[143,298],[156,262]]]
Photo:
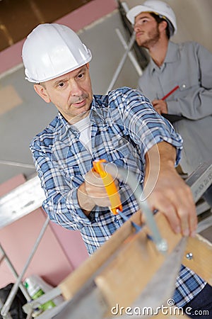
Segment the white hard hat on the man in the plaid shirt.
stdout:
[[25,78],[40,83],[86,65],[90,50],[67,26],[44,23],[26,38],[22,50]]

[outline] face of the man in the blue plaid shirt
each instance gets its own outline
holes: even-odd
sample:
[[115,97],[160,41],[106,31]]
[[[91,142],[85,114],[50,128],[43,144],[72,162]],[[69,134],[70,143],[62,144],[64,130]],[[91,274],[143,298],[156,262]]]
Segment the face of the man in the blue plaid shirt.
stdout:
[[88,64],[83,65],[41,85],[35,84],[35,91],[42,99],[54,103],[71,124],[87,116],[85,112],[90,110],[93,92],[88,68]]

